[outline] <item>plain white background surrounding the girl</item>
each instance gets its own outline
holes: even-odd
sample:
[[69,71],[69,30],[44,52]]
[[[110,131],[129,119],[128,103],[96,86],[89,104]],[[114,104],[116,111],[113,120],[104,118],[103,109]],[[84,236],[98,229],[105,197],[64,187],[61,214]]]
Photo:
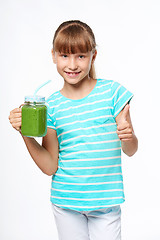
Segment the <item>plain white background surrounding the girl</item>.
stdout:
[[39,92],[46,97],[62,88],[52,39],[59,24],[71,19],[86,22],[95,33],[97,77],[134,93],[131,116],[139,150],[131,158],[123,154],[122,239],[160,239],[159,13],[158,0],[1,0],[1,240],[58,239],[51,177],[35,165],[8,116],[41,83],[52,80]]

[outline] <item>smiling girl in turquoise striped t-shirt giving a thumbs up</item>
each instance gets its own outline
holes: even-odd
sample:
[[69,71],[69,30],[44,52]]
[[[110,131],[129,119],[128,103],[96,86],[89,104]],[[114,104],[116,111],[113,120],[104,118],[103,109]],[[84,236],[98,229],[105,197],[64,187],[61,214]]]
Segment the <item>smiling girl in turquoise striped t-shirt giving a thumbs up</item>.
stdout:
[[[59,26],[52,57],[64,86],[47,100],[42,146],[22,136],[38,167],[52,175],[51,202],[61,240],[121,239],[121,149],[132,156],[138,146],[129,113],[133,95],[117,82],[96,79],[96,55],[87,24]],[[11,111],[9,119],[20,132],[21,109]]]

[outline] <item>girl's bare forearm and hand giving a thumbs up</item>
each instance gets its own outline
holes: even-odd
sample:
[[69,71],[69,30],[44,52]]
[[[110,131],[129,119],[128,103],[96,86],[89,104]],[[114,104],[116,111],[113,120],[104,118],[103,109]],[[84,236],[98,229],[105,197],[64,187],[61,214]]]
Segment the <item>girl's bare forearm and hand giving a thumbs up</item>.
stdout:
[[128,104],[116,117],[116,123],[122,151],[128,156],[133,156],[138,149],[138,139],[133,130]]

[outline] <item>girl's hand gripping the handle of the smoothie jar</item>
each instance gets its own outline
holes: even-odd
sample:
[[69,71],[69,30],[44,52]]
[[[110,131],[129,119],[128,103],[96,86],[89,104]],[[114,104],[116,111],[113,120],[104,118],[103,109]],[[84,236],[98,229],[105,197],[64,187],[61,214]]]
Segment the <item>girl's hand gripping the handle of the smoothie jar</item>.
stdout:
[[15,108],[10,112],[9,115],[9,121],[13,128],[15,128],[17,131],[21,130],[21,123],[22,123],[22,109],[21,108]]

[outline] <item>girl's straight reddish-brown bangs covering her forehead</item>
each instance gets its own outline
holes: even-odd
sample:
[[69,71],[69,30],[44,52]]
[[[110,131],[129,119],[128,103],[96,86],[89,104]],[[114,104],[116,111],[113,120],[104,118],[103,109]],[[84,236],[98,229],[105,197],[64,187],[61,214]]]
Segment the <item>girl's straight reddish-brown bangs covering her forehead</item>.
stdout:
[[94,48],[87,32],[73,25],[60,31],[53,42],[55,52],[66,54],[86,53]]

